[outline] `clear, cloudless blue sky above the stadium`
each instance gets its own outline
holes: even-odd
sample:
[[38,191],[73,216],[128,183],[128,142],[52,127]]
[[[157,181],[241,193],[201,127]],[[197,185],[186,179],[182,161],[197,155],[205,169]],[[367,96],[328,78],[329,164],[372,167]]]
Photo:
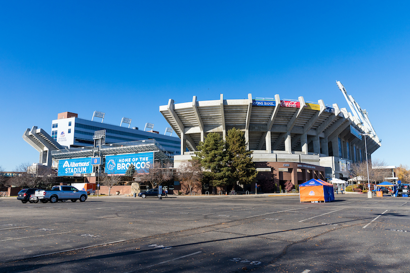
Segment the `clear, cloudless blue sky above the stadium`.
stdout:
[[[169,99],[255,97],[366,109],[373,158],[409,165],[410,2],[3,1],[0,166],[37,162],[26,128],[60,112],[168,126]],[[349,110],[350,112],[350,110]],[[175,135],[175,133],[174,133]]]

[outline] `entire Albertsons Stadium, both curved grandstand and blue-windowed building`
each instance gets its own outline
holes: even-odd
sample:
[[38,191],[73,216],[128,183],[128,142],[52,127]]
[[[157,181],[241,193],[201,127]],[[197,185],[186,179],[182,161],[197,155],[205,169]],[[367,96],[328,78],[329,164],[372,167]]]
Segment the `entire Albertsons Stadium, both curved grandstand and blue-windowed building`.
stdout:
[[[273,98],[249,94],[247,99],[232,100],[221,94],[219,100],[211,101],[193,96],[191,102],[176,104],[170,99],[159,106],[171,126],[163,135],[153,131],[150,123],[146,123],[150,131],[129,128],[128,118],[119,125],[103,123],[105,114],[95,111],[91,120],[60,113],[52,121],[52,135],[34,126],[24,132],[23,139],[39,152],[38,165],[58,167],[59,176],[88,177],[93,183],[98,172],[124,174],[131,162],[145,167],[154,161],[173,161],[178,168],[208,133],[217,132],[225,139],[229,129],[237,128],[253,151],[258,183],[283,188],[291,181],[297,189],[311,178],[347,180],[352,165],[365,161],[366,152],[371,158],[381,146],[366,111],[337,84],[350,112],[337,104],[325,105],[323,100],[282,100],[278,94]],[[102,121],[94,121],[95,117]],[[173,131],[179,138],[171,136]]]

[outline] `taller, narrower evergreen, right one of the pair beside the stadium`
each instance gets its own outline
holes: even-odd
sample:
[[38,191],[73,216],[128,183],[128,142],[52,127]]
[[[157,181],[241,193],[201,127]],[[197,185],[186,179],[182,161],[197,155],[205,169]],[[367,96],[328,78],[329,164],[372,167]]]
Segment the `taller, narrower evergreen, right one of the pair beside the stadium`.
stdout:
[[250,184],[255,181],[257,171],[252,160],[252,151],[248,150],[242,131],[232,128],[226,134],[226,150],[229,155],[231,181]]

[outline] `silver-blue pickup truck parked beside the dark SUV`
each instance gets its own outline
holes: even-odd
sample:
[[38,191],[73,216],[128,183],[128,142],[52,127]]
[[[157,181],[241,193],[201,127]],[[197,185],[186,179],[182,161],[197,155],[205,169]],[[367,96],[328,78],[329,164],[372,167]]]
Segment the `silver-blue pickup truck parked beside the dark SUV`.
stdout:
[[30,201],[38,200],[42,203],[56,203],[57,201],[71,200],[75,202],[79,200],[84,202],[87,200],[87,192],[78,191],[78,189],[72,186],[53,186],[51,190],[36,190],[34,194],[30,196]]

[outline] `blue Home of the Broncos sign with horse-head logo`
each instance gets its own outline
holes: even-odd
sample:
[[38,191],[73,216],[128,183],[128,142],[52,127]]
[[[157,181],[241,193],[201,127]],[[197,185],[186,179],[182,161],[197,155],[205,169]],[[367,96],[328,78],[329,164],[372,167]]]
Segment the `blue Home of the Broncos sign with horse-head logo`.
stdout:
[[136,172],[148,172],[153,163],[154,153],[106,156],[105,173],[125,174],[131,164],[134,165]]

